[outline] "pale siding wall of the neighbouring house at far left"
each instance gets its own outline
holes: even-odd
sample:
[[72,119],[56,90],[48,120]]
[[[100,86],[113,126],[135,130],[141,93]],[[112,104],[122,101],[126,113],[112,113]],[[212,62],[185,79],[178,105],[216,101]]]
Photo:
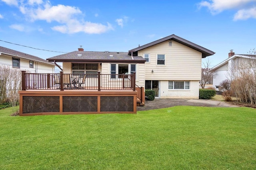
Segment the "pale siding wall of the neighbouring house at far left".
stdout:
[[[29,62],[33,60],[23,59],[19,57],[14,58],[20,59],[20,70],[26,70],[31,73],[54,73],[55,71],[55,66],[52,64],[34,61],[34,68],[30,68]],[[10,66],[12,68],[12,56],[5,54],[0,55],[0,64]]]

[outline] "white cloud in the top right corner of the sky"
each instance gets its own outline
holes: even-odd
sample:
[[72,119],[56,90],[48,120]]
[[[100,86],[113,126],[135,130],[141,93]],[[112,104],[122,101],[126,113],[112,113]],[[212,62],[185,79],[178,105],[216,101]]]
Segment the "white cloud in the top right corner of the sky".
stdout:
[[198,8],[207,7],[210,12],[215,15],[224,10],[235,9],[238,12],[234,16],[234,20],[246,20],[255,18],[255,8],[247,8],[256,5],[256,0],[207,0],[198,4]]

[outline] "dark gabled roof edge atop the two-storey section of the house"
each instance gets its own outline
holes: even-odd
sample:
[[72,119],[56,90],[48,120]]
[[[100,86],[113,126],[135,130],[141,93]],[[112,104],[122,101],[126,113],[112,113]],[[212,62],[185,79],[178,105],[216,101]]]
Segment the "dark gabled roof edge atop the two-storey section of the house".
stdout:
[[181,43],[181,44],[183,44],[183,45],[186,45],[187,47],[190,47],[190,48],[192,48],[192,49],[195,49],[196,51],[201,52],[201,53],[202,53],[202,58],[205,58],[205,57],[207,57],[207,56],[210,56],[210,55],[214,55],[214,54],[215,54],[213,51],[210,51],[210,50],[208,50],[208,49],[206,49],[206,48],[204,48],[204,47],[201,47],[200,45],[197,45],[197,44],[195,44],[195,43],[192,43],[192,42],[190,42],[190,41],[188,41],[188,40],[186,40],[186,39],[183,39],[183,38],[181,38],[181,37],[178,37],[177,35],[174,35],[174,34],[172,34],[172,35],[170,35],[170,36],[168,36],[168,37],[164,37],[164,38],[162,38],[162,39],[158,39],[158,40],[153,41],[153,42],[151,42],[151,43],[142,45],[142,46],[137,47],[137,48],[135,48],[135,49],[131,49],[131,50],[128,52],[128,54],[130,55],[131,51],[139,51],[139,50],[145,49],[145,48],[147,48],[147,47],[151,47],[151,46],[153,46],[153,45],[156,45],[156,44],[158,44],[158,43],[162,43],[162,42],[167,41],[167,40],[176,41],[176,42],[178,42],[178,43]]

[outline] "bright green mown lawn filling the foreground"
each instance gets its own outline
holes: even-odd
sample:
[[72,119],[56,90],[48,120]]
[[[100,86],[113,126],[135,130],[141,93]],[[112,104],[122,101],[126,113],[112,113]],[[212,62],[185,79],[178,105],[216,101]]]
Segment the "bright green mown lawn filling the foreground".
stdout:
[[9,116],[0,169],[256,169],[256,109],[176,106],[137,114]]

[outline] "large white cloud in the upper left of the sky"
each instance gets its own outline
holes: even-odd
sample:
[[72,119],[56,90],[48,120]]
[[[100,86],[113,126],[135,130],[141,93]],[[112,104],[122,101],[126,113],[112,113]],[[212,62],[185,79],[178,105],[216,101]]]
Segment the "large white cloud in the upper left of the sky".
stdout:
[[[24,14],[26,20],[32,22],[37,20],[43,20],[48,23],[57,22],[51,28],[61,33],[84,32],[88,34],[100,34],[113,30],[110,23],[104,25],[102,23],[85,21],[83,19],[84,14],[82,14],[78,7],[74,6],[65,6],[62,4],[52,6],[48,0],[27,0],[19,1],[18,8]],[[95,16],[97,17],[98,14],[95,14]],[[20,30],[22,30],[21,27]]]

